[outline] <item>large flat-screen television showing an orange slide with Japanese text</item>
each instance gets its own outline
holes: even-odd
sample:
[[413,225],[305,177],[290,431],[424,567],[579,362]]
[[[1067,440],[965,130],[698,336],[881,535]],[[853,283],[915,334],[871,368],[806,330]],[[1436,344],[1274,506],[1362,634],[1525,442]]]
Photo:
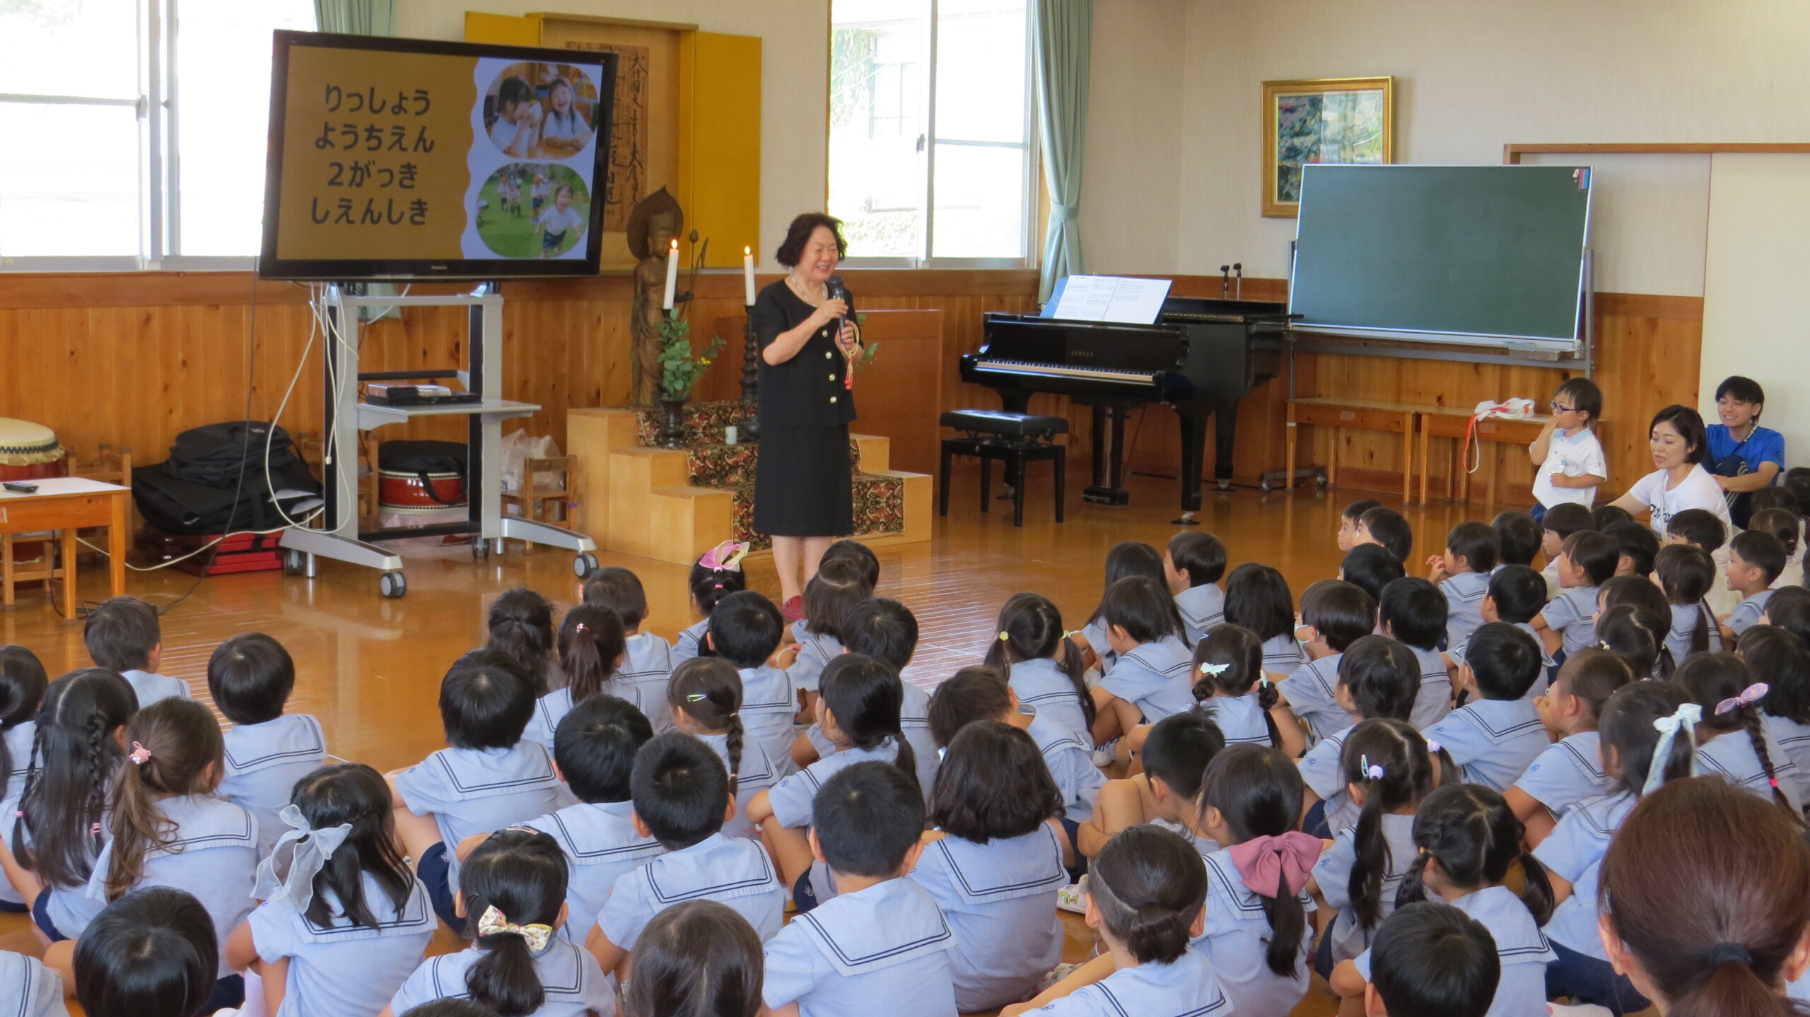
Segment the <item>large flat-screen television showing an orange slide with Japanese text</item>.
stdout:
[[614,96],[614,52],[275,33],[259,275],[595,275]]

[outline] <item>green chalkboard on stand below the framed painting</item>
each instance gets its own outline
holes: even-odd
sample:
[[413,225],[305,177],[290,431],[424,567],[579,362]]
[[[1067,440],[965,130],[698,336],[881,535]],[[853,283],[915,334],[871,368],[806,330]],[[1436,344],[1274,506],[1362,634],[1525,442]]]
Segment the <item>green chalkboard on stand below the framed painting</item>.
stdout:
[[1296,328],[1575,349],[1589,170],[1309,165]]

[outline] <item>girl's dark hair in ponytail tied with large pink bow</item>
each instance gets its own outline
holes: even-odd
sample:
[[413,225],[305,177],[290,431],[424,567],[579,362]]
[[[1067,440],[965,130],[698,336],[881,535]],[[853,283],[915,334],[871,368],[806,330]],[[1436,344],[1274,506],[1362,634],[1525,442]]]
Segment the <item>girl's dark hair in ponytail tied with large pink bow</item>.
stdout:
[[[1238,876],[1269,919],[1265,963],[1287,977],[1301,974],[1301,943],[1309,928],[1300,892],[1321,847],[1318,838],[1294,829],[1305,793],[1301,773],[1287,755],[1251,744],[1229,746],[1213,756],[1200,778],[1200,811],[1220,811],[1231,831]],[[1276,856],[1276,865],[1258,865],[1265,854]]]

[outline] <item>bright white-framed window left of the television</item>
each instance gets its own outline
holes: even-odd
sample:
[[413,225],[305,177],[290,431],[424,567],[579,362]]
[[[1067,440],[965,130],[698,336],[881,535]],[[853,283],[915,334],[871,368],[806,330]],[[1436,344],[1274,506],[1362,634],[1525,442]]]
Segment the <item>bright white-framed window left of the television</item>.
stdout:
[[0,270],[250,266],[313,0],[0,0]]

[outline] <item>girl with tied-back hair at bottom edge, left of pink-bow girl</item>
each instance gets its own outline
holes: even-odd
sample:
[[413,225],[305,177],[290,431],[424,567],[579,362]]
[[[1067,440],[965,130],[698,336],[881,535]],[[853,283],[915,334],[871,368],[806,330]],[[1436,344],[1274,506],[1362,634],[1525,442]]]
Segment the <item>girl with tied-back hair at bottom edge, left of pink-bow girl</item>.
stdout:
[[1213,961],[1187,945],[1205,928],[1205,899],[1207,867],[1193,845],[1157,827],[1120,832],[1093,861],[1086,894],[1088,928],[1111,965],[1088,965],[999,1017],[1231,1012]]

